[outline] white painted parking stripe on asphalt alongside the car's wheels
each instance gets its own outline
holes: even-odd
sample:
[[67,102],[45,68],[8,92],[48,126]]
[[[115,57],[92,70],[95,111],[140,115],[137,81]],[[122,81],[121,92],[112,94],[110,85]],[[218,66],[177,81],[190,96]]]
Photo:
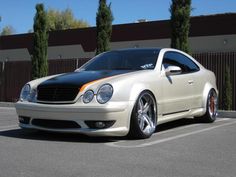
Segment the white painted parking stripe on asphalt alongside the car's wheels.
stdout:
[[[229,120],[229,119],[225,118],[225,119],[218,120],[217,122],[222,122],[222,121],[226,121],[226,120]],[[176,140],[176,139],[183,138],[183,137],[186,137],[186,136],[190,136],[190,135],[194,135],[194,134],[210,131],[210,130],[213,130],[213,129],[216,129],[216,128],[220,128],[220,127],[224,127],[224,126],[228,126],[228,125],[233,125],[233,124],[236,124],[236,121],[227,122],[227,123],[224,123],[224,124],[220,124],[220,125],[204,128],[204,129],[201,129],[201,130],[192,131],[192,132],[189,132],[189,133],[183,133],[183,134],[179,134],[179,135],[176,135],[176,136],[172,136],[172,137],[168,137],[168,138],[164,138],[164,139],[160,139],[160,140],[150,141],[150,142],[139,144],[139,145],[128,145],[128,146],[125,146],[125,145],[119,145],[118,144],[118,143],[124,143],[126,141],[110,142],[110,143],[105,143],[105,144],[107,146],[119,147],[119,148],[141,148],[141,147],[147,147],[147,146],[152,146],[152,145],[160,144],[160,143],[163,143],[163,142],[168,142],[168,141],[171,141],[171,140]],[[198,124],[198,125],[200,125],[200,124]],[[190,127],[190,126],[182,127],[181,129],[188,128],[188,127]],[[177,129],[174,129],[174,130],[177,130]],[[163,133],[172,132],[174,130],[165,131]],[[156,135],[158,135],[158,134],[159,133],[157,133]]]

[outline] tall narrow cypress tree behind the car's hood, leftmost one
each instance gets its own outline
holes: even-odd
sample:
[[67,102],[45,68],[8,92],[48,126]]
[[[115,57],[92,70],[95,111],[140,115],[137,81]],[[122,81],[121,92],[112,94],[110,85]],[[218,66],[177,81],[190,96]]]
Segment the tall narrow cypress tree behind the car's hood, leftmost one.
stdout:
[[34,48],[32,57],[32,78],[40,78],[48,74],[47,61],[48,23],[43,4],[36,5],[34,17]]

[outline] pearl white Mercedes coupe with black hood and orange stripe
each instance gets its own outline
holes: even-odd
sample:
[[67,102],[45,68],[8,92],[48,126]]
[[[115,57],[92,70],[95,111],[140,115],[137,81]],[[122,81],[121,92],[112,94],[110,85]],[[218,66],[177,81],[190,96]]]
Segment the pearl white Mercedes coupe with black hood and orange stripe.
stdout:
[[214,122],[217,98],[214,73],[188,54],[139,48],[30,81],[15,107],[22,128],[148,138],[158,124],[180,118]]

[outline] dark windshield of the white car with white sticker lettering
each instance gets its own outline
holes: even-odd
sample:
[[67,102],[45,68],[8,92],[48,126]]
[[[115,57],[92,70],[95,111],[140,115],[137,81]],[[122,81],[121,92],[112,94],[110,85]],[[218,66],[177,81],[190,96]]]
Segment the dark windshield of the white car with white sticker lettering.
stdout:
[[80,70],[145,70],[154,69],[159,54],[158,49],[121,50],[102,53]]

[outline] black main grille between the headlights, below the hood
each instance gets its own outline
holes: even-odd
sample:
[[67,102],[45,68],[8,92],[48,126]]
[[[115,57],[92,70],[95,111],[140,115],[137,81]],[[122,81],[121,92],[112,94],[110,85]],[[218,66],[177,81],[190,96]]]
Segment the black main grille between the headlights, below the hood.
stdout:
[[78,92],[77,87],[39,87],[37,100],[48,102],[73,101]]

